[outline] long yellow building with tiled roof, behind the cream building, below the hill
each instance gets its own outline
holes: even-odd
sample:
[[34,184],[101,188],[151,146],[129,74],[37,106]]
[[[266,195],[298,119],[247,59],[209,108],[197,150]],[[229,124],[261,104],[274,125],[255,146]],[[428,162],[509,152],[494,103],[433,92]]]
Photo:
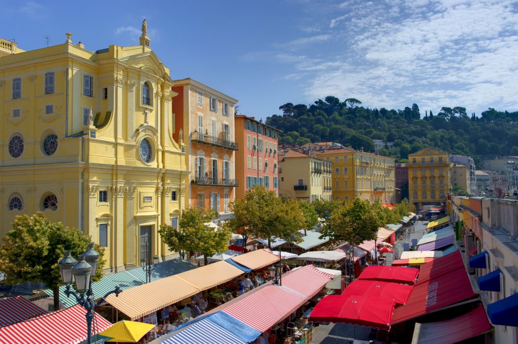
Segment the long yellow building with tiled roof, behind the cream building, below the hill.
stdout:
[[347,147],[317,152],[316,156],[333,162],[334,199],[349,201],[359,197],[371,202],[396,201],[394,158]]

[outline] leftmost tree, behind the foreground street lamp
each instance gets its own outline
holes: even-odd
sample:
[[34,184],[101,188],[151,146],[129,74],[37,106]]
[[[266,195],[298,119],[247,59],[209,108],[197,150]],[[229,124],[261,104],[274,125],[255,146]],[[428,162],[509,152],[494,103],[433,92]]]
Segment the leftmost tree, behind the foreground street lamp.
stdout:
[[[42,282],[52,289],[54,309],[60,308],[59,286],[61,273],[57,262],[70,250],[73,257],[88,248],[90,237],[82,231],[66,227],[61,222],[50,222],[43,213],[19,215],[12,229],[0,245],[0,271],[6,274],[6,283]],[[104,250],[99,250],[97,270],[93,278],[102,276]]]

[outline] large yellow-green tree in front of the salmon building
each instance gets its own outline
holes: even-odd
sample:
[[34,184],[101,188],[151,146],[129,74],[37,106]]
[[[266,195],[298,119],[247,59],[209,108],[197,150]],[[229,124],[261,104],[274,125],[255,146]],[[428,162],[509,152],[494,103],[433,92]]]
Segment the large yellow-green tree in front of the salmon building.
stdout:
[[254,186],[243,199],[234,201],[230,207],[234,217],[227,220],[228,227],[242,230],[245,236],[266,239],[268,247],[274,238],[298,242],[299,230],[306,227],[297,201],[282,201],[275,191],[266,190],[263,186]]

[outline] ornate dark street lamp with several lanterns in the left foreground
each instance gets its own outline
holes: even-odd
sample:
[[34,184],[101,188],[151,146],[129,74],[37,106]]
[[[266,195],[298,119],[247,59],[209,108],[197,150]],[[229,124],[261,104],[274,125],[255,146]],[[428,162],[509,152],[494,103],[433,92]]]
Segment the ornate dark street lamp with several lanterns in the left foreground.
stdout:
[[[85,317],[87,318],[87,343],[92,343],[92,320],[94,317],[94,310],[96,306],[99,306],[110,294],[119,296],[122,292],[121,288],[117,285],[115,290],[107,293],[98,302],[94,301],[94,295],[92,291],[92,271],[95,274],[97,269],[97,262],[99,261],[99,253],[94,250],[94,244],[88,244],[88,250],[82,255],[79,255],[79,262],[70,256],[70,251],[65,251],[65,257],[59,261],[61,280],[66,285],[65,294],[67,297],[74,295],[79,305],[83,306],[87,310]],[[70,288],[71,283],[75,280],[76,290]],[[79,292],[79,293],[78,293]]]

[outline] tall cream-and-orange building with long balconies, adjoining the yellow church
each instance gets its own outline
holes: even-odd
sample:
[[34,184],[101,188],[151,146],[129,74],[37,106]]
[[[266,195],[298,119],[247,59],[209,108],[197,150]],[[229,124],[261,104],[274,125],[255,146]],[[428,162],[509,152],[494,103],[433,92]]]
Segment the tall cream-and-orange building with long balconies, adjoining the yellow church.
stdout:
[[193,79],[174,80],[172,136],[185,141],[190,205],[224,218],[239,185],[235,176],[234,105],[237,100]]

